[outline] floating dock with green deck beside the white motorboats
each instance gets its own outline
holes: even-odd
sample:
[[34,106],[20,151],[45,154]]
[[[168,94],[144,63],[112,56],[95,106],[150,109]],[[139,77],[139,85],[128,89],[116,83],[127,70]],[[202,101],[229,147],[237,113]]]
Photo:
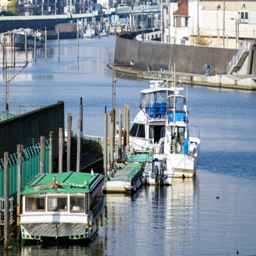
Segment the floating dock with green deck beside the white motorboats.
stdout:
[[116,166],[114,174],[109,173],[104,183],[105,193],[133,193],[143,185],[143,167],[149,154],[129,156],[125,163]]

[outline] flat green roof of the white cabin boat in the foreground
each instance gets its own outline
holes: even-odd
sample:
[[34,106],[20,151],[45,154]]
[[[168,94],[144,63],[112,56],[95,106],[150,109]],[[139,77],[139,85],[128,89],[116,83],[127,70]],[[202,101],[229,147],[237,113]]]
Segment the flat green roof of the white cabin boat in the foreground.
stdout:
[[99,173],[60,172],[35,177],[21,191],[21,195],[40,193],[90,193],[98,192],[104,185]]

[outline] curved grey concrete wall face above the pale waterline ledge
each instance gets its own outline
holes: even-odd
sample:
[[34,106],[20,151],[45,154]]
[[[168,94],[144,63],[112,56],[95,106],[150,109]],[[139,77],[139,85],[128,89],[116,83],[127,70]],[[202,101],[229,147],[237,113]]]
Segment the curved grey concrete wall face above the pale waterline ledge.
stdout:
[[116,38],[115,64],[130,65],[135,61],[134,69],[146,70],[172,70],[176,62],[176,72],[205,74],[207,64],[210,65],[211,74],[227,74],[227,65],[236,49],[223,49],[217,47],[187,46],[181,44],[162,44],[145,41],[129,40],[127,35]]

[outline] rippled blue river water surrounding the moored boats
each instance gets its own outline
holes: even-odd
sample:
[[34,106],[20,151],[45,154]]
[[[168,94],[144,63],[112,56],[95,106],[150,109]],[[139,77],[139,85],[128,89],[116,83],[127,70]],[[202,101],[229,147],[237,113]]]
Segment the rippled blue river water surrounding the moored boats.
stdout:
[[[71,113],[76,133],[82,97],[83,134],[102,136],[105,106],[108,113],[112,106],[112,70],[106,65],[113,61],[115,37],[80,40],[79,51],[77,40],[63,40],[59,61],[57,41],[47,47],[47,61],[44,49],[38,49],[36,63],[29,50],[28,67],[9,83],[9,111],[23,113],[63,100],[65,120]],[[22,63],[24,53],[16,55]],[[116,109],[128,102],[132,120],[146,87],[148,81],[131,76],[118,79]],[[239,256],[256,255],[256,94],[203,87],[185,87],[183,94],[189,124],[201,131],[195,180],[106,195],[108,218],[90,244],[14,247],[9,255],[236,255],[237,250]],[[4,110],[4,73],[0,102]]]

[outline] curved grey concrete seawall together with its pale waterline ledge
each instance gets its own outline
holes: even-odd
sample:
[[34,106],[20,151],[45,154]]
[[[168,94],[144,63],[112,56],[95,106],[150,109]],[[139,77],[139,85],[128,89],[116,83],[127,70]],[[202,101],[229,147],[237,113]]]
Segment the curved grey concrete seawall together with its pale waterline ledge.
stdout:
[[[135,61],[130,73],[138,78],[152,79],[161,74],[161,79],[170,78],[174,62],[177,79],[194,85],[226,87],[242,90],[256,90],[256,52],[254,51],[252,74],[227,75],[227,67],[236,49],[160,42],[132,40],[135,35],[121,35],[116,38],[114,64],[117,70],[125,69],[131,60]],[[207,64],[211,76],[206,77]],[[245,62],[244,65],[247,65]],[[111,65],[110,65],[111,66]],[[127,69],[127,67],[126,67]],[[160,72],[163,69],[164,72]]]

